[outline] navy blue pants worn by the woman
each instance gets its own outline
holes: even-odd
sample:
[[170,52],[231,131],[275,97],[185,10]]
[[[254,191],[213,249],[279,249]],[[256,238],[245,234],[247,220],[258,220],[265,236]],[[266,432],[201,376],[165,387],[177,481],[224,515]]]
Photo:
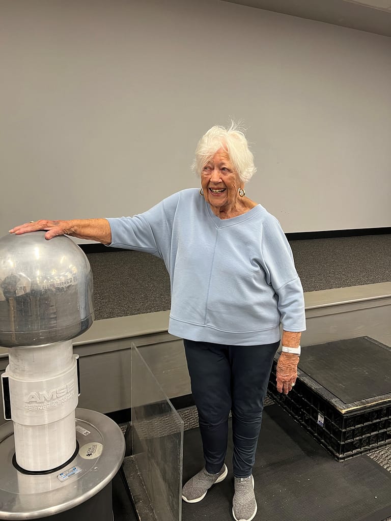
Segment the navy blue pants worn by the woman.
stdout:
[[191,392],[196,403],[205,468],[222,468],[232,412],[234,476],[251,475],[262,422],[263,402],[279,342],[224,345],[184,340]]

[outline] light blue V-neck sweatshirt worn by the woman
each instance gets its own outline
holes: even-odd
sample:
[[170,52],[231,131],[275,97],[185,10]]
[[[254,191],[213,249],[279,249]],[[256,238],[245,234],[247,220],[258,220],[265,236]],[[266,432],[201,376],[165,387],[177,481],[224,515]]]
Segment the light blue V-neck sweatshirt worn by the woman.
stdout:
[[198,189],[134,217],[107,219],[110,246],[161,257],[171,281],[168,331],[229,345],[277,342],[280,323],[304,331],[304,298],[289,243],[261,205],[216,217]]

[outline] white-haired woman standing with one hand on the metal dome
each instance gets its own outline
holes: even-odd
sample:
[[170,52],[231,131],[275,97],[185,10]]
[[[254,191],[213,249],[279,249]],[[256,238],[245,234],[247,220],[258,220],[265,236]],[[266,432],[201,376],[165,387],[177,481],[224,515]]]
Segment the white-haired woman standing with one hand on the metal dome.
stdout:
[[182,190],[140,215],[41,220],[10,232],[43,229],[46,239],[68,234],[163,259],[171,281],[168,331],[184,339],[205,460],[182,498],[201,501],[227,476],[231,411],[233,515],[250,521],[257,509],[252,467],[280,324],[277,389],[288,393],[305,329],[303,291],[278,221],[246,196],[255,167],[243,133],[212,127],[198,144],[193,168],[200,190]]

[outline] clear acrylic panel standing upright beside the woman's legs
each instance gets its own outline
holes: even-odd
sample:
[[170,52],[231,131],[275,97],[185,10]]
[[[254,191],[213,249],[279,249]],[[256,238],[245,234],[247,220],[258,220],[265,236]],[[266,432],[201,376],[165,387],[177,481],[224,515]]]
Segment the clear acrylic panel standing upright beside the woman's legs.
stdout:
[[132,458],[153,514],[180,521],[184,423],[134,344],[131,408]]

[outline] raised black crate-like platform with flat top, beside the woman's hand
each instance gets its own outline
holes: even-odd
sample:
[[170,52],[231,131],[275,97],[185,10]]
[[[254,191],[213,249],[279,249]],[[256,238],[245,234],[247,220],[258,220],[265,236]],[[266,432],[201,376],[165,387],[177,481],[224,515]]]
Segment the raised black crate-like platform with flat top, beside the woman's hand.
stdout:
[[288,395],[276,389],[276,356],[268,391],[339,461],[391,443],[391,349],[371,338],[302,349]]

